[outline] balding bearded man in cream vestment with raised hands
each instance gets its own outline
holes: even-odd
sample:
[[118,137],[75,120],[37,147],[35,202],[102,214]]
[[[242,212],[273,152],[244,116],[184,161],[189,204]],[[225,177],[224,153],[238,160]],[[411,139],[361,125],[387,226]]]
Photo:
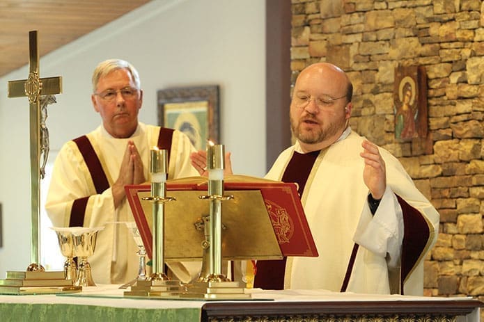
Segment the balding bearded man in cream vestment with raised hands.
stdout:
[[[266,178],[297,182],[319,257],[258,261],[254,287],[423,293],[439,214],[394,156],[352,131],[351,99],[352,84],[335,65],[299,74],[290,105],[297,141]],[[203,173],[203,152],[192,164]]]

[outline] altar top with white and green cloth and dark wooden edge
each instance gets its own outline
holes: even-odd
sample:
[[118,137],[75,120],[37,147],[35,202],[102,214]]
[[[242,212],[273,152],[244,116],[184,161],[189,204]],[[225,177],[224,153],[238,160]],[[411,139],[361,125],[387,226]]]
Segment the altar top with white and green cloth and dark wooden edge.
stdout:
[[[479,321],[483,303],[469,297],[334,293],[322,290],[247,290],[251,300],[166,300],[125,298],[119,285],[84,287],[63,295],[0,295],[0,320],[9,321],[206,321],[208,316],[279,312],[394,312],[439,310],[462,315],[459,321]],[[400,306],[400,308],[398,308]],[[444,312],[445,313],[445,312]]]

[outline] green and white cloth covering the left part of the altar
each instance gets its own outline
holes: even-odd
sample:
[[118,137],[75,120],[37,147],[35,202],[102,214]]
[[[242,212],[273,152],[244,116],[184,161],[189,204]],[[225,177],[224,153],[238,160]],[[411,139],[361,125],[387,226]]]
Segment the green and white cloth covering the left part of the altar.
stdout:
[[0,321],[198,322],[201,300],[125,298],[119,285],[84,287],[81,293],[0,295]]

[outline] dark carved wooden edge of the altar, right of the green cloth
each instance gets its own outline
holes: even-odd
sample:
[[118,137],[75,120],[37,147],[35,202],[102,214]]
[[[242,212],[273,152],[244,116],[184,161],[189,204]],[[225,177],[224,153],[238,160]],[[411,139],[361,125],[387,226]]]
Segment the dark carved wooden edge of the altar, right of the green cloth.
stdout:
[[201,321],[479,321],[476,305],[483,303],[477,300],[206,303]]

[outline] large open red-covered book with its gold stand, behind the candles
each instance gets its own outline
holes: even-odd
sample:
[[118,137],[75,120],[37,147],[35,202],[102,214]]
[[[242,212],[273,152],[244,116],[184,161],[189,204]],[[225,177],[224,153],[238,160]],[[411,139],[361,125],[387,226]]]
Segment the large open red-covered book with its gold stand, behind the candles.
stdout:
[[[125,186],[127,201],[151,258],[153,204],[150,183]],[[164,204],[166,260],[200,260],[209,215],[207,177],[187,177],[166,182]],[[224,178],[222,202],[222,257],[224,259],[279,259],[283,256],[318,256],[295,184],[230,175]]]

